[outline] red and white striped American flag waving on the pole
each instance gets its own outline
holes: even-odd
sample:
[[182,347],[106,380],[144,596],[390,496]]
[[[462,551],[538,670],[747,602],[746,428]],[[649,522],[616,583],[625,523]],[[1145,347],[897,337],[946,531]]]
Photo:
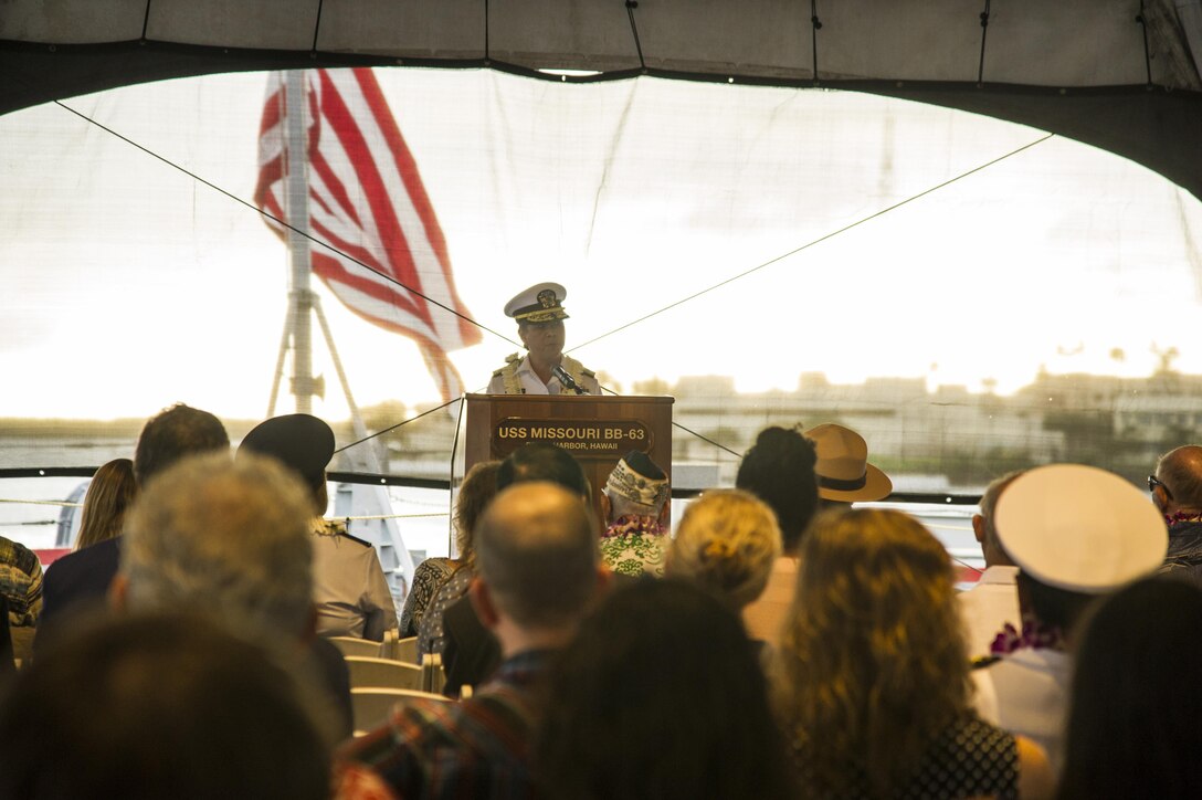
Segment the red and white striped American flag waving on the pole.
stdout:
[[[448,402],[463,380],[447,357],[480,342],[456,292],[446,238],[370,69],[304,75],[313,271],[352,312],[412,338]],[[268,79],[255,203],[286,219],[284,73]],[[282,225],[264,217],[286,238]],[[361,262],[361,263],[359,263]],[[364,266],[365,265],[365,266]]]

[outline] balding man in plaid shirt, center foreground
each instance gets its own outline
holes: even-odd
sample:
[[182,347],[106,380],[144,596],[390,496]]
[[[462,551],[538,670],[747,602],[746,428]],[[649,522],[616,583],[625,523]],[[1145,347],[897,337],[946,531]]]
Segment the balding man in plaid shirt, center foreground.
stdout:
[[552,654],[607,582],[579,496],[531,481],[501,491],[476,531],[471,602],[505,660],[456,704],[415,701],[347,745],[339,798],[525,798],[529,751]]

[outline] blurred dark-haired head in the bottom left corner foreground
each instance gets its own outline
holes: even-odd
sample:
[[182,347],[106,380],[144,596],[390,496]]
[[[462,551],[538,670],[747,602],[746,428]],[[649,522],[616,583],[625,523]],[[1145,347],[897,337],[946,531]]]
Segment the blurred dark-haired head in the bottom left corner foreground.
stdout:
[[319,800],[326,743],[288,670],[194,616],[64,632],[0,703],[4,800]]

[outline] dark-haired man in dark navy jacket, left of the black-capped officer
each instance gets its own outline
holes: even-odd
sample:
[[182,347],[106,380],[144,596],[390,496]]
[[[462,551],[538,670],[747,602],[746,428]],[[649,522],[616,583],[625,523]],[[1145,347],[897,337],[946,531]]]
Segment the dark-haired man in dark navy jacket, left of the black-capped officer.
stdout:
[[[218,417],[208,411],[177,403],[151,417],[142,428],[133,452],[133,479],[138,487],[184,456],[228,450],[230,437]],[[69,553],[46,570],[44,608],[37,626],[35,650],[60,624],[66,624],[77,606],[79,611],[105,604],[105,593],[117,575],[124,537]]]

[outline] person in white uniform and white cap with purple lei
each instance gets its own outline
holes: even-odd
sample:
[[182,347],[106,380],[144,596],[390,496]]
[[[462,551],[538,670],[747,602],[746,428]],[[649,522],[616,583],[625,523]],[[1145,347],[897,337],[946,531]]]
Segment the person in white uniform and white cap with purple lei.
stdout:
[[1022,632],[974,672],[981,715],[1039,742],[1059,774],[1072,671],[1070,645],[1095,598],[1154,571],[1165,522],[1124,479],[1095,467],[1051,464],[1016,478],[998,499],[998,540],[1018,564]]

